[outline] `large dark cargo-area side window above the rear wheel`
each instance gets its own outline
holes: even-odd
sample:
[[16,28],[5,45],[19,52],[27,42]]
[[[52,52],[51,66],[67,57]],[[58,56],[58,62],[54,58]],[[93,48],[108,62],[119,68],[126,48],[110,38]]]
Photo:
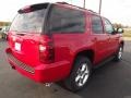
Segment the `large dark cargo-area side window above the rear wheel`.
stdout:
[[83,33],[85,15],[83,12],[53,5],[49,14],[48,30],[51,33]]

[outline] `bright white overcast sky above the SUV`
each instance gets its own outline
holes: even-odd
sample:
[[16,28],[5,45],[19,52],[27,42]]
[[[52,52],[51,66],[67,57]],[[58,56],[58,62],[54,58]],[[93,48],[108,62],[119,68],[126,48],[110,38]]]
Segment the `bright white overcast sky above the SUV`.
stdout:
[[[25,5],[39,2],[57,2],[61,0],[2,0],[0,2],[0,21],[12,21],[16,11]],[[83,7],[84,0],[62,0]],[[98,12],[99,0],[85,0],[86,9]],[[102,0],[102,15],[112,23],[131,26],[131,0]]]

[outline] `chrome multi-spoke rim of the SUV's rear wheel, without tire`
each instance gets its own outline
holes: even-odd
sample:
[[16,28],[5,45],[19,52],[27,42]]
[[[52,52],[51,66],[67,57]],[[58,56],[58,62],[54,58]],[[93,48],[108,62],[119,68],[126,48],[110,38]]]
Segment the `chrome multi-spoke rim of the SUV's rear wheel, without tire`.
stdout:
[[76,72],[76,76],[75,76],[75,83],[79,87],[82,87],[88,79],[90,76],[90,70],[87,68],[87,63],[83,63],[78,72]]

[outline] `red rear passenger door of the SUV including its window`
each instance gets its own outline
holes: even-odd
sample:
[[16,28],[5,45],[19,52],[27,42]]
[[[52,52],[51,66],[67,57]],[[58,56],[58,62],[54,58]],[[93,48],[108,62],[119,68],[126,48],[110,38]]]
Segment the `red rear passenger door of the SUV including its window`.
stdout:
[[91,22],[92,35],[94,37],[93,42],[95,46],[95,63],[98,63],[109,56],[109,36],[104,32],[103,21],[100,16],[92,15]]

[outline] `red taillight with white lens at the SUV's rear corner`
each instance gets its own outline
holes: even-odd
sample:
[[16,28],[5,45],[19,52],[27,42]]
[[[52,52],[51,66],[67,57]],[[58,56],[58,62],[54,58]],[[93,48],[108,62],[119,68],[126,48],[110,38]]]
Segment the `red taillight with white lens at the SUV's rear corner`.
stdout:
[[41,63],[51,63],[55,60],[53,40],[50,36],[43,35],[40,37],[39,60]]

